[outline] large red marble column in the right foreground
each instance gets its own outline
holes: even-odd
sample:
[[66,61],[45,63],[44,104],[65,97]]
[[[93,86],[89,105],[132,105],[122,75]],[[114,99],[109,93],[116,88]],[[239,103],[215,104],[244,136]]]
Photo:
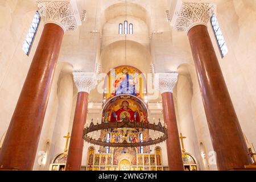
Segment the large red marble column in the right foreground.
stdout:
[[192,27],[188,38],[218,169],[244,168],[250,161],[247,146],[207,27]]

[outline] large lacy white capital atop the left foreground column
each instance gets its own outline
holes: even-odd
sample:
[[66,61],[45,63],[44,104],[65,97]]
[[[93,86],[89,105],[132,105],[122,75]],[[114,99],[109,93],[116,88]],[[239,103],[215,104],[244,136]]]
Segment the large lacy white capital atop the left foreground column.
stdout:
[[81,26],[76,0],[37,0],[38,11],[45,23],[55,23],[64,32]]

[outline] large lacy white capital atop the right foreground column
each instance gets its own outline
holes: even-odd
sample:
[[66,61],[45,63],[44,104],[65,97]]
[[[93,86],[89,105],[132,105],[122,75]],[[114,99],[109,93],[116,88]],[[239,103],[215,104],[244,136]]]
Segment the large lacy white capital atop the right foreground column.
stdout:
[[199,0],[176,0],[172,2],[171,25],[177,31],[189,31],[199,24],[207,26],[210,17],[216,11],[216,4],[213,1]]

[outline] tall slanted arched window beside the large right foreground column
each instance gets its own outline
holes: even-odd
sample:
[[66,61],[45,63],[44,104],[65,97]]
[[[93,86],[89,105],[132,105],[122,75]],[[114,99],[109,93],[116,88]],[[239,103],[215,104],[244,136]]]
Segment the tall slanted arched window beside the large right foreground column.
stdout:
[[220,49],[221,57],[223,58],[228,53],[228,47],[226,46],[224,36],[221,32],[221,28],[218,25],[218,20],[217,20],[216,15],[214,15],[214,14],[212,15],[210,22],[212,23],[212,28],[213,28],[215,37],[218,42],[218,48]]

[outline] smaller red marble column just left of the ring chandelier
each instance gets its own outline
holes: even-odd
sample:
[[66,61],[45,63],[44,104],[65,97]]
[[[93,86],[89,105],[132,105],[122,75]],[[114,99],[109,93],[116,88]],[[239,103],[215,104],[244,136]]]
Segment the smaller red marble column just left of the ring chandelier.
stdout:
[[82,147],[84,146],[83,130],[86,123],[89,94],[79,92],[73,121],[71,140],[69,143],[66,171],[80,171],[82,163]]

